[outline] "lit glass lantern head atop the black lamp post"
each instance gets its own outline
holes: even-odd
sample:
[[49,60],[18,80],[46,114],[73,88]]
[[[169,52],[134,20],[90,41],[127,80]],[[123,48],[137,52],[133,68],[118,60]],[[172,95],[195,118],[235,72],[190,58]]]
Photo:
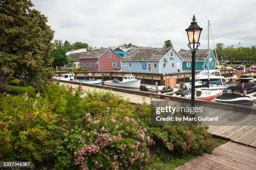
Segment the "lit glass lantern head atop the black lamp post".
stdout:
[[197,22],[195,21],[195,15],[193,16],[193,21],[191,22],[191,25],[189,28],[185,29],[187,31],[187,37],[189,39],[189,48],[191,50],[197,49],[198,46],[200,46],[199,38],[202,31],[202,28],[197,25]]

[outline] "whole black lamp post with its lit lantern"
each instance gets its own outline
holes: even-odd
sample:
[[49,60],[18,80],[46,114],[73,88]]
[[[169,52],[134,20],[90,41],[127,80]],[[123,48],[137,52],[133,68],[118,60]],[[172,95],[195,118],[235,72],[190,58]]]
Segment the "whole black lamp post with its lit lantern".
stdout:
[[195,53],[198,46],[200,46],[199,38],[202,28],[197,25],[195,21],[195,15],[193,16],[193,21],[189,28],[185,29],[187,31],[187,37],[189,43],[187,46],[192,50],[192,86],[191,86],[191,107],[195,107]]

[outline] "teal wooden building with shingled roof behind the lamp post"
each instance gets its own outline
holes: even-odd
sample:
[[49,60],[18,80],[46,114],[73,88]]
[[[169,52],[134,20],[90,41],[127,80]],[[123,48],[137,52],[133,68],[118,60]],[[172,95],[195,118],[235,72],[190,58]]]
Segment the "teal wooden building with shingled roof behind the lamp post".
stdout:
[[[181,50],[179,51],[179,56],[183,58],[182,61],[182,70],[183,71],[191,71],[192,70],[192,53],[191,50]],[[210,58],[210,70],[215,69],[216,65],[216,59],[215,56],[210,50],[209,52],[209,58]],[[207,70],[208,69],[208,50],[203,49],[203,50],[197,50],[196,53],[196,71],[200,70]]]

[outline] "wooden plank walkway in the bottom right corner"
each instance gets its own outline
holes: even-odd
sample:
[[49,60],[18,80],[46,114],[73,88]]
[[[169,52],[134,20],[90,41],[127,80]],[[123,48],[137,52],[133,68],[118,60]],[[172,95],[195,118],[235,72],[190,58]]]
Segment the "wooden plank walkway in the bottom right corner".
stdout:
[[228,142],[212,154],[197,157],[176,170],[256,170],[256,149]]

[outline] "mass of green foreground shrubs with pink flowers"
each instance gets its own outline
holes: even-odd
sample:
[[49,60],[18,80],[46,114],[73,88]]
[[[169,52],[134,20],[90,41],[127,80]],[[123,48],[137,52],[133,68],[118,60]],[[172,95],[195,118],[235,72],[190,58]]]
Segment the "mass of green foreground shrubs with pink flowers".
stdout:
[[3,96],[0,159],[55,160],[55,169],[139,169],[153,140],[172,155],[211,150],[206,127],[150,127],[146,103],[81,89],[51,84],[40,96]]

